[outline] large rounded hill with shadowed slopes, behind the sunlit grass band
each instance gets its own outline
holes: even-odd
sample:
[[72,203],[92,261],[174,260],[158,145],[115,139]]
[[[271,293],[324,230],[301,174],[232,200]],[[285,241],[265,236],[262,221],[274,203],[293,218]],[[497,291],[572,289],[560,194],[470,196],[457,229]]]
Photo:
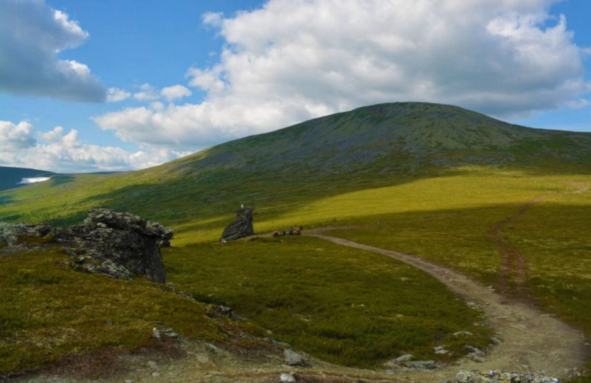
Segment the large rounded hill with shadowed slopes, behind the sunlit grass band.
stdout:
[[591,174],[591,133],[526,128],[451,105],[384,103],[144,170],[56,176],[26,197],[20,190],[7,194],[10,204],[0,208],[0,220],[64,225],[100,206],[180,225],[225,215],[241,203],[256,206],[261,217],[331,195],[472,168]]

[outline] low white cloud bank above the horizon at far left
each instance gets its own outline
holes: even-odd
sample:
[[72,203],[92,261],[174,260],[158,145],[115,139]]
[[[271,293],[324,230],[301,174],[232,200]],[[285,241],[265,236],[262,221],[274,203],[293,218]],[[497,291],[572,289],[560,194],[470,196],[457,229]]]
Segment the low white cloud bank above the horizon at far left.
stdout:
[[38,141],[33,137],[33,125],[26,121],[18,125],[0,121],[0,165],[58,173],[120,171],[151,167],[188,154],[164,148],[146,147],[129,152],[122,148],[88,145],[80,142],[76,129],[66,132],[61,126],[39,133]]

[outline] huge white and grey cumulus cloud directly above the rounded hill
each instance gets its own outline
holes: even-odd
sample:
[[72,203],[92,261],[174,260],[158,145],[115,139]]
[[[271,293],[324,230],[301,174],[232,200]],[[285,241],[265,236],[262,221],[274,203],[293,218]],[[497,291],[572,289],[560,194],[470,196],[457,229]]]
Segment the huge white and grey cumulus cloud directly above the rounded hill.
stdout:
[[95,116],[145,144],[196,147],[362,105],[427,101],[501,118],[586,98],[582,59],[557,0],[270,0],[203,23],[219,61],[187,71],[199,104]]

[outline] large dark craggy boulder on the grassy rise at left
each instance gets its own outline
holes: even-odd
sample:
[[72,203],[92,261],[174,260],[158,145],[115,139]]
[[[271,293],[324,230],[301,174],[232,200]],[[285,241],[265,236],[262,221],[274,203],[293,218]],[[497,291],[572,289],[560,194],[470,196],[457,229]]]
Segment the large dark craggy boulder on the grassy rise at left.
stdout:
[[77,252],[84,255],[83,260],[100,264],[87,271],[105,272],[113,277],[128,275],[115,273],[116,269],[109,267],[114,264],[119,270],[122,267],[131,274],[146,275],[153,282],[166,282],[160,247],[170,244],[173,231],[160,223],[147,222],[129,213],[92,209],[83,225],[57,229],[54,235],[60,242],[73,243]]

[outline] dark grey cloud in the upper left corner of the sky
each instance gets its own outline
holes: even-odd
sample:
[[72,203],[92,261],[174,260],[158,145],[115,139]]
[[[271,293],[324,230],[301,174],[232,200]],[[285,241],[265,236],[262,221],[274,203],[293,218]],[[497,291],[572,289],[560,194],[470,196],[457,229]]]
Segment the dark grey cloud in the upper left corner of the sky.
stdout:
[[104,101],[105,87],[89,67],[58,58],[87,37],[76,21],[43,0],[0,1],[0,91]]

